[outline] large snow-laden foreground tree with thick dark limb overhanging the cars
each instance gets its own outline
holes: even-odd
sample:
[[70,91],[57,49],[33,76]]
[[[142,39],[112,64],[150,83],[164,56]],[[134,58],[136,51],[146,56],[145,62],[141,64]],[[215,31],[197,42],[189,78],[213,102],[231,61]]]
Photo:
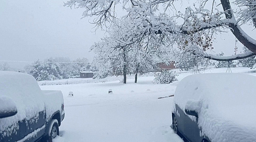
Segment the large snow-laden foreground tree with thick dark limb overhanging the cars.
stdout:
[[[117,48],[125,45],[148,40],[162,39],[168,41],[171,47],[190,52],[196,56],[218,61],[231,61],[255,55],[256,40],[250,38],[240,25],[251,24],[256,27],[256,0],[235,0],[233,3],[239,8],[234,15],[230,0],[194,0],[193,5],[177,11],[181,0],[69,0],[64,6],[84,8],[83,17],[94,17],[92,23],[97,28],[111,30],[111,26],[120,13],[126,11],[123,18],[129,18],[134,32],[127,32],[130,37],[126,42],[120,42]],[[124,11],[120,11],[121,6]],[[118,10],[116,10],[118,9]],[[121,15],[122,16],[122,15]],[[251,22],[251,23],[250,23]],[[250,51],[228,57],[206,54],[213,50],[213,40],[216,33],[231,30],[234,36]],[[225,47],[231,48],[233,47]]]

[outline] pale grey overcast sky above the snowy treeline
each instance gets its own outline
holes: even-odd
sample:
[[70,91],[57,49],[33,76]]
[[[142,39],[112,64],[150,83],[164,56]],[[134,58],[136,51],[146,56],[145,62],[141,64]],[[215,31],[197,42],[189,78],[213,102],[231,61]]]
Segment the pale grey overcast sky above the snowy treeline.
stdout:
[[[89,18],[80,19],[83,10],[64,7],[63,1],[3,0],[0,5],[0,60],[43,61],[48,57],[87,57],[91,60],[93,53],[89,53],[89,48],[104,32],[93,32]],[[245,31],[256,39],[256,31],[252,29],[252,26],[246,27]],[[216,52],[231,55],[234,45],[235,37],[227,33],[218,35],[214,47]],[[238,47],[240,52],[243,46],[239,44]],[[28,63],[8,64],[23,68]]]

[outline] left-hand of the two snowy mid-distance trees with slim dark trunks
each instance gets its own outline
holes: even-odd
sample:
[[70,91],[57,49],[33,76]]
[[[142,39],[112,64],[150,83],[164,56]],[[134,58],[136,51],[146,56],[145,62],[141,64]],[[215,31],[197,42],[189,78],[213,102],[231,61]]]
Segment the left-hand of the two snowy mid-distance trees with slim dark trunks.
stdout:
[[126,75],[130,72],[129,54],[132,48],[132,44],[125,42],[134,37],[133,34],[129,34],[134,32],[132,28],[127,21],[116,21],[108,35],[91,47],[96,53],[94,61],[107,65],[98,64],[99,71],[108,71],[111,75],[123,75],[124,83],[126,83]]

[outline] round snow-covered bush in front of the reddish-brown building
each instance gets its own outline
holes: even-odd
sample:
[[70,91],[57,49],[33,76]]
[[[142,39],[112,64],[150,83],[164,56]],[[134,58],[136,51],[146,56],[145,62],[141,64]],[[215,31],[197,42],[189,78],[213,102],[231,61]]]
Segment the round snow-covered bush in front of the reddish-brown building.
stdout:
[[163,70],[161,72],[155,73],[155,78],[154,78],[153,83],[169,84],[169,83],[172,83],[174,81],[177,81],[176,76],[178,76],[176,74],[176,72],[173,72],[171,70]]

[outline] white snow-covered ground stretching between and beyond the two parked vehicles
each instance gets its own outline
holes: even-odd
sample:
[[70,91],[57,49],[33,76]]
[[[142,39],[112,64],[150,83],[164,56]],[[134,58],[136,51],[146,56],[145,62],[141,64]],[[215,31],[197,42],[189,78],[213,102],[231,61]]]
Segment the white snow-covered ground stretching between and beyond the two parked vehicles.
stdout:
[[[201,73],[226,72],[211,68]],[[249,68],[231,68],[232,72],[251,74]],[[43,90],[61,90],[65,119],[55,142],[183,142],[170,125],[173,97],[179,81],[193,72],[181,72],[178,81],[168,85],[152,84],[154,76],[140,76],[138,83],[81,83],[43,85]],[[113,94],[108,94],[108,89]],[[74,97],[67,97],[73,91]]]

